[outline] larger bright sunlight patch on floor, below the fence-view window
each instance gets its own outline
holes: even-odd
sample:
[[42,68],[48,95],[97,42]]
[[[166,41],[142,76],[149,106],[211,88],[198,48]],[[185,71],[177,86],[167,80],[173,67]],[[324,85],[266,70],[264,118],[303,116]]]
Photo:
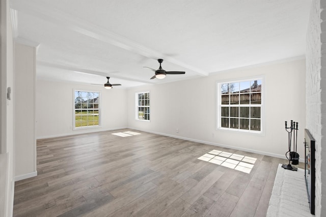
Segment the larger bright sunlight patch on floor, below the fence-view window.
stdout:
[[254,157],[219,150],[212,150],[197,159],[238,170],[243,173],[250,173],[257,160],[257,158]]

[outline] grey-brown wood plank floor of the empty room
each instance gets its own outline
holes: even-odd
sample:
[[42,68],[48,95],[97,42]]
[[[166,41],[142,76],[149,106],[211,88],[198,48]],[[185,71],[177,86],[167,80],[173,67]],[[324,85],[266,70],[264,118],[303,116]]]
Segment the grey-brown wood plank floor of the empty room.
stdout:
[[[38,176],[15,182],[14,216],[265,216],[285,160],[140,132],[37,141]],[[286,147],[285,147],[286,148]],[[257,158],[250,174],[197,159]]]

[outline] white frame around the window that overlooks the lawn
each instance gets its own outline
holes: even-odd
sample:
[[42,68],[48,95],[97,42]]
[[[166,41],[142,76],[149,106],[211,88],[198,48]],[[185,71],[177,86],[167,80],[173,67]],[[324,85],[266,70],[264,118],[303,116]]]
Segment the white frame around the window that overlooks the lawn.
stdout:
[[[78,108],[75,108],[75,92],[87,92],[87,93],[98,93],[98,108],[87,108],[86,110],[98,110],[98,125],[90,125],[90,126],[77,126],[76,127],[76,110],[79,110]],[[92,91],[92,90],[73,90],[73,115],[72,115],[72,122],[73,122],[73,130],[80,130],[80,129],[90,129],[90,128],[99,128],[101,127],[101,92],[100,91]],[[83,110],[83,109],[80,109]]]

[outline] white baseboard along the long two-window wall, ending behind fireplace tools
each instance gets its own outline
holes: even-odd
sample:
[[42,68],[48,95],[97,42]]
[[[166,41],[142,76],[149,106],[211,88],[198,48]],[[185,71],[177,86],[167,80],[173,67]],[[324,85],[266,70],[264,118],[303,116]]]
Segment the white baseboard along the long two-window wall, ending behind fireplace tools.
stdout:
[[[248,151],[248,152],[251,152],[251,153],[262,154],[262,155],[266,155],[266,156],[278,157],[278,158],[281,158],[281,159],[286,159],[285,155],[281,155],[281,154],[275,154],[275,153],[270,153],[270,152],[265,152],[265,151],[258,151],[258,150],[254,150],[254,149],[242,148],[242,147],[237,147],[237,146],[230,146],[230,145],[219,144],[219,143],[212,143],[212,142],[208,142],[208,141],[196,140],[196,139],[186,138],[186,137],[178,137],[176,135],[171,135],[171,134],[167,134],[167,133],[160,133],[160,132],[143,130],[143,129],[137,129],[137,128],[132,128],[132,127],[129,127],[129,128],[130,129],[134,129],[134,130],[139,130],[139,131],[154,133],[154,134],[158,134],[158,135],[165,135],[166,137],[172,137],[172,138],[176,138],[176,139],[192,141],[192,142],[196,142],[196,143],[203,143],[203,144],[207,144],[207,145],[219,146],[219,147],[223,147],[223,148],[231,148],[231,149],[236,149],[236,150],[240,150],[240,151]],[[300,159],[299,161],[300,162],[305,162],[304,159]]]

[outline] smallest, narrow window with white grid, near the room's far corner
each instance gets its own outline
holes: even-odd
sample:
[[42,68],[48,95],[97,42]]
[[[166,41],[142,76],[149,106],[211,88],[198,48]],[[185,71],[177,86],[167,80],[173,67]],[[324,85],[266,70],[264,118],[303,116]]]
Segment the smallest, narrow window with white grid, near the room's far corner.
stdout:
[[150,99],[149,92],[136,94],[136,119],[150,120]]

